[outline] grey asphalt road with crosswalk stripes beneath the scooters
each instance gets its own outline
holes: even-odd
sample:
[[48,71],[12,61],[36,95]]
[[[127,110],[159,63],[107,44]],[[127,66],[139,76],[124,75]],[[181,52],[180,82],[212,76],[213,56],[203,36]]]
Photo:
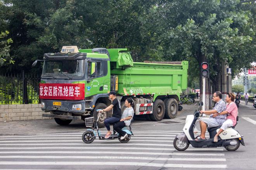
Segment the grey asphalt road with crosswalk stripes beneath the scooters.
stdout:
[[[176,151],[175,135],[182,131],[187,114],[197,105],[184,105],[175,119],[161,122],[135,120],[131,140],[85,144],[83,121],[58,126],[53,119],[1,122],[0,170],[3,169],[255,169],[256,109],[241,101],[236,129],[246,146],[237,151],[225,148],[192,148]],[[106,129],[102,129],[106,132]]]

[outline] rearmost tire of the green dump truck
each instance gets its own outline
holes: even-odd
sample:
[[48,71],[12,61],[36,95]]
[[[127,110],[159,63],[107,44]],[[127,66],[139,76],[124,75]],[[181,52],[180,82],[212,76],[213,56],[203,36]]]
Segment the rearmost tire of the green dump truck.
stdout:
[[174,119],[178,113],[178,102],[175,99],[165,99],[165,114],[164,117],[167,119]]

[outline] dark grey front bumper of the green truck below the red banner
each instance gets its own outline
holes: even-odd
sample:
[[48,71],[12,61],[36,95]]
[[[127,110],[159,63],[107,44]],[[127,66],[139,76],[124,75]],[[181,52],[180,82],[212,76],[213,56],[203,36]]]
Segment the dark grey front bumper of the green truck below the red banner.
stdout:
[[[42,99],[42,102],[45,103],[45,107],[42,108],[45,112],[50,111],[62,111],[70,112],[74,114],[83,114],[85,113],[85,100],[50,100]],[[61,102],[61,105],[53,105],[53,102]],[[81,104],[81,110],[72,110],[74,104]]]

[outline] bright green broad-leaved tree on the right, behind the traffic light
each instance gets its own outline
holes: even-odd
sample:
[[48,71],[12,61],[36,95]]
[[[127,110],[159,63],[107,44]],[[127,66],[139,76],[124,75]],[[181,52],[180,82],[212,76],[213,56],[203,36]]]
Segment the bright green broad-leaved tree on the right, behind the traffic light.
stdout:
[[[145,32],[153,32],[158,37],[157,42],[166,54],[164,59],[195,61],[198,68],[203,61],[208,62],[210,78],[206,84],[209,81],[215,91],[220,90],[224,64],[233,63],[233,70],[240,70],[255,60],[253,55],[244,53],[255,51],[255,30],[251,11],[243,8],[244,3],[239,0],[157,1],[143,27]],[[200,73],[197,76],[202,92]],[[209,90],[207,86],[206,93]],[[206,108],[210,98],[206,95]]]

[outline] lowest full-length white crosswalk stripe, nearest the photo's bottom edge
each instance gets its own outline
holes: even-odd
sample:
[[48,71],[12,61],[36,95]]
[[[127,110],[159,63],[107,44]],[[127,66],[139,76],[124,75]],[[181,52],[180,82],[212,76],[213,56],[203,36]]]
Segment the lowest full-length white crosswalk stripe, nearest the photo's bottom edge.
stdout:
[[211,164],[170,164],[170,163],[147,163],[147,162],[4,162],[0,165],[120,165],[120,166],[147,166],[166,168],[227,168],[227,165]]

